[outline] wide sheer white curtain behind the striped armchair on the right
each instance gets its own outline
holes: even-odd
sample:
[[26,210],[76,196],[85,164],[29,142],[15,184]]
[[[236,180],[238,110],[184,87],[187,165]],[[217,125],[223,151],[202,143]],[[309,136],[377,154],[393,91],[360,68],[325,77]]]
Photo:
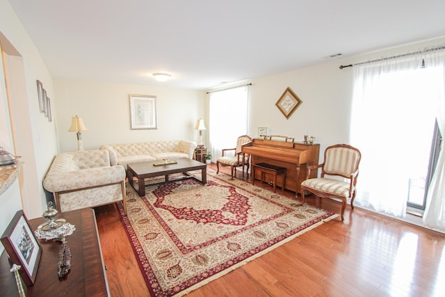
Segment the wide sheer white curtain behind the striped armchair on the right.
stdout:
[[362,152],[359,206],[403,217],[410,177],[426,173],[428,156],[419,152],[429,152],[443,70],[421,67],[424,56],[354,66],[350,141]]

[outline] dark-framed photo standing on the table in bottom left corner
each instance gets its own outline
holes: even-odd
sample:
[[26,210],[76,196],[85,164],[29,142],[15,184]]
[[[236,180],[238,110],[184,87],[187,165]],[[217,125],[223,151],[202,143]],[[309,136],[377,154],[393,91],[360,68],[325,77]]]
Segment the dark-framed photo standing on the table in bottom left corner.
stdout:
[[8,253],[10,262],[22,266],[19,273],[26,286],[32,286],[37,275],[42,247],[35,239],[22,209],[17,211],[3,232],[1,243]]

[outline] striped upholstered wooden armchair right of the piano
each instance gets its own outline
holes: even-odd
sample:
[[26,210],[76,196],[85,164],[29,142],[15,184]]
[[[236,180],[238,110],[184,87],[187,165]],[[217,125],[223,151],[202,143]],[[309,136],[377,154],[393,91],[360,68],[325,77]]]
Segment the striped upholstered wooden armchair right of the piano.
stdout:
[[[308,166],[307,179],[301,183],[302,203],[305,203],[305,191],[318,198],[338,198],[341,200],[341,220],[344,220],[346,202],[354,209],[355,184],[359,175],[360,151],[350,145],[332,145],[325,150],[324,163]],[[311,170],[321,168],[321,175],[310,178]],[[325,177],[330,175],[331,177]],[[332,177],[343,177],[343,180]]]

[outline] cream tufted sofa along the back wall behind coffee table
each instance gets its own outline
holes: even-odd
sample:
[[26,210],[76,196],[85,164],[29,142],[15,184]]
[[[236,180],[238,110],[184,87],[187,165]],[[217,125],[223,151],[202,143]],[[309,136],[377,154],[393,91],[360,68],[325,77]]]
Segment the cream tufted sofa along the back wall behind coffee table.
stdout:
[[101,145],[108,150],[111,165],[122,165],[161,159],[190,158],[193,159],[196,143],[193,141],[153,141],[147,143],[121,143]]

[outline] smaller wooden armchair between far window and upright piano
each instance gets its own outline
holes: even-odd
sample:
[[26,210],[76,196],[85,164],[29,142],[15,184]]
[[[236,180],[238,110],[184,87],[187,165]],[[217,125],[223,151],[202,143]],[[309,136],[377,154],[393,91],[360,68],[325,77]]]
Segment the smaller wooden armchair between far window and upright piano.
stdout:
[[[241,152],[241,147],[246,143],[250,142],[252,142],[252,137],[248,135],[239,136],[238,140],[236,141],[235,148],[223,149],[223,156],[220,156],[218,159],[216,159],[216,173],[218,174],[218,172],[220,172],[220,165],[230,166],[232,179],[234,179],[234,170],[236,170],[236,167],[243,167],[243,179],[244,179],[244,166],[245,166],[246,167],[245,173],[249,177],[248,170],[249,170],[250,154],[245,154],[244,152]],[[234,151],[233,155],[232,153],[229,153],[231,151]]]

